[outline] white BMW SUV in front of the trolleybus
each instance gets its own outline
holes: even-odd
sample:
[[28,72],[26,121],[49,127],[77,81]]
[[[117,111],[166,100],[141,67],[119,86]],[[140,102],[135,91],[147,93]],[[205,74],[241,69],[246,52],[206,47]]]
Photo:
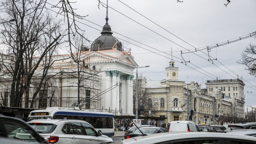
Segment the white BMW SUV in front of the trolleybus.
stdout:
[[100,144],[113,142],[101,132],[97,132],[86,121],[72,119],[37,119],[27,122],[48,143],[55,144]]

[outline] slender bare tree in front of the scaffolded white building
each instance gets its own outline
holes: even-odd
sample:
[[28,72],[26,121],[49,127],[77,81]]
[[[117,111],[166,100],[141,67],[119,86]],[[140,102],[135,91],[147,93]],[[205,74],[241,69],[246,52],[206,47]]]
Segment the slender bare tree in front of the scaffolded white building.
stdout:
[[87,85],[86,81],[90,81],[90,79],[93,79],[94,77],[97,77],[99,73],[101,73],[101,68],[97,69],[95,68],[95,65],[90,65],[90,51],[89,47],[86,46],[87,39],[84,38],[84,34],[82,36],[78,35],[75,36],[72,42],[70,43],[72,46],[70,48],[70,57],[72,58],[72,66],[68,71],[64,73],[64,75],[67,75],[69,79],[75,79],[77,80],[77,103],[74,103],[74,105],[80,106],[87,106],[90,101],[96,100],[97,97],[90,97],[90,98],[82,98],[81,94],[86,95],[86,91],[90,91],[94,93],[94,95],[97,95],[95,92],[95,84]]

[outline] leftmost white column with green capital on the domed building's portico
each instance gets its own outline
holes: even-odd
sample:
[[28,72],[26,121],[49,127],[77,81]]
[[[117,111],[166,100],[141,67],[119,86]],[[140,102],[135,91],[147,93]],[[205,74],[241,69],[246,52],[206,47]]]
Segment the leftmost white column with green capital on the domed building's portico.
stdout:
[[[111,79],[110,79],[110,71],[105,71],[105,72],[106,72],[106,90],[107,90],[108,88],[110,88],[112,86],[112,82],[111,82]],[[107,109],[107,110],[110,107],[111,96],[112,96],[111,91],[106,92],[106,94],[105,94],[105,107],[104,108]]]

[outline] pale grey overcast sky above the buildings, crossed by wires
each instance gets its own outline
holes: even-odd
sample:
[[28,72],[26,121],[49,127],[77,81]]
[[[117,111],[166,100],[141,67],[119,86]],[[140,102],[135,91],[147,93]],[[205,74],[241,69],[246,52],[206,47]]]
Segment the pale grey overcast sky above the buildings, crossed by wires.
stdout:
[[[202,49],[206,46],[216,46],[217,43],[235,40],[255,32],[255,0],[231,0],[226,7],[224,5],[224,3],[227,3],[226,0],[120,1],[108,1],[108,23],[113,31],[113,36],[123,43],[124,50],[127,51],[127,48],[131,48],[137,64],[139,66],[150,66],[149,68],[138,69],[138,72],[143,73],[148,80],[165,79],[165,68],[169,66],[172,48],[172,58],[180,70],[179,80],[186,81],[186,83],[195,81],[203,84],[206,80],[215,80],[216,77],[218,79],[236,79],[237,75],[239,78],[242,76],[246,84],[244,87],[245,108],[247,105],[256,105],[255,78],[248,74],[244,65],[236,63],[245,47],[250,43],[256,44],[256,39],[246,38],[211,49],[209,52],[211,59],[217,58],[218,60],[213,60],[213,63],[208,61],[207,50],[185,53],[188,52],[186,49],[193,51],[195,48]],[[101,0],[101,2],[106,4],[107,1]],[[122,2],[162,28],[122,4]],[[76,12],[80,15],[89,15],[86,20],[100,26],[86,20],[79,20],[80,22],[101,31],[106,22],[106,8],[100,5],[100,9],[98,9],[97,5],[98,0],[78,0],[74,4],[74,8],[77,9]],[[100,31],[86,25],[81,24],[81,27],[85,30],[85,35],[89,40],[94,41],[101,35]],[[184,60],[190,61],[187,65],[181,63],[184,62],[184,60],[181,60],[181,50],[182,53],[185,53],[182,54]],[[202,88],[205,87],[205,85],[202,85]]]

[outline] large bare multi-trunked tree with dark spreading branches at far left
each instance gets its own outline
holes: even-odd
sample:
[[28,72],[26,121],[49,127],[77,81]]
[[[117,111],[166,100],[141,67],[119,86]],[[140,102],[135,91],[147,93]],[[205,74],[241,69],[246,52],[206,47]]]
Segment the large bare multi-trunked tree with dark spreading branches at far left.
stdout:
[[[1,2],[1,11],[5,17],[1,20],[15,18],[15,23],[5,23],[1,31],[2,44],[10,49],[13,56],[10,63],[2,63],[7,78],[11,79],[10,106],[18,107],[25,94],[28,107],[28,92],[33,75],[39,67],[43,67],[41,81],[52,65],[53,54],[62,43],[60,21],[55,21],[44,9],[45,1],[6,0]],[[6,79],[5,79],[6,80]],[[39,89],[40,89],[39,84]],[[38,92],[38,91],[37,91]],[[31,101],[33,107],[34,94]]]

